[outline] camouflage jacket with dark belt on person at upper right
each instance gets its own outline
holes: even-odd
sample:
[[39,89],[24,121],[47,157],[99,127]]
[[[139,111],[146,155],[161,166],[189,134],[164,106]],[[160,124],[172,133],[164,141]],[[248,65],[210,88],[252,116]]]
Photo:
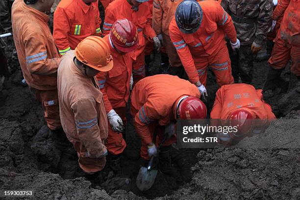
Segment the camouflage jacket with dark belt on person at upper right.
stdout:
[[241,45],[266,42],[272,25],[272,0],[222,0],[221,5],[231,16]]

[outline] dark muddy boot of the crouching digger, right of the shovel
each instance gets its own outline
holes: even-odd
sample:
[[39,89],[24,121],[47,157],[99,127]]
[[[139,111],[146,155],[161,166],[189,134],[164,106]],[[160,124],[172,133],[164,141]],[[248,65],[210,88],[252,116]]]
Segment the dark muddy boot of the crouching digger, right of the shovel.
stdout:
[[166,175],[178,175],[178,172],[171,164],[171,154],[170,154],[171,146],[160,148],[159,152],[159,170]]

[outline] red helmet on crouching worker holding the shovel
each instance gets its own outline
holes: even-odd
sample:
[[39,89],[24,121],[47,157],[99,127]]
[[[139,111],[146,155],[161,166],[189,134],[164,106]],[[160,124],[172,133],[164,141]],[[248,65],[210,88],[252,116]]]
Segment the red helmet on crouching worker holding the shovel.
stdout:
[[[177,102],[175,106],[177,106]],[[187,97],[178,106],[180,119],[205,119],[207,114],[206,105],[198,98]]]

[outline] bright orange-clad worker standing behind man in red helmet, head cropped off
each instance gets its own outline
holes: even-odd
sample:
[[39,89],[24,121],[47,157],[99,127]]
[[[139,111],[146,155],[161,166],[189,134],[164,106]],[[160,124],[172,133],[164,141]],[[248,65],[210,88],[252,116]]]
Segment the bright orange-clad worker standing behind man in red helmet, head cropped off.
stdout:
[[[139,32],[139,47],[134,51],[136,61],[133,63],[134,84],[145,77],[145,40],[154,42],[160,49],[160,41],[150,25],[150,8],[148,0],[114,0],[105,9],[103,34],[109,34],[111,26],[120,19],[128,19],[136,25]],[[145,37],[144,37],[145,35]]]

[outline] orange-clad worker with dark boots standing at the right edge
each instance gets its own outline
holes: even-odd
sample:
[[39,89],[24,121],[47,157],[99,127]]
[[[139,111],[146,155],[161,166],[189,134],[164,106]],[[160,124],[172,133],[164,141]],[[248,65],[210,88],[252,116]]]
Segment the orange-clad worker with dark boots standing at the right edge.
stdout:
[[275,45],[268,63],[269,73],[264,86],[266,95],[272,95],[275,87],[281,86],[280,75],[292,59],[289,90],[300,79],[300,1],[280,0],[274,10],[273,20],[283,19],[274,40]]

